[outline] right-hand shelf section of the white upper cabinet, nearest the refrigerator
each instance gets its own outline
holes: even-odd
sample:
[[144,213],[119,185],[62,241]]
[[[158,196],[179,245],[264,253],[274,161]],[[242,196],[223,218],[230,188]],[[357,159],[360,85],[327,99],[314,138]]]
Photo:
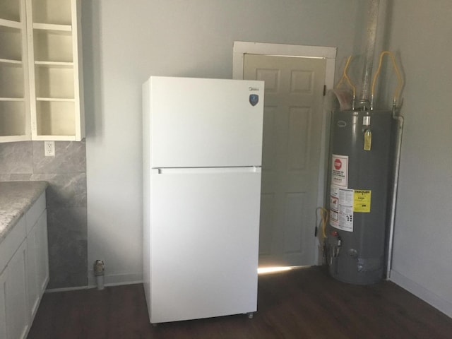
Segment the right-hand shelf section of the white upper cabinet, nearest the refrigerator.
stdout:
[[80,1],[26,1],[32,139],[81,141]]

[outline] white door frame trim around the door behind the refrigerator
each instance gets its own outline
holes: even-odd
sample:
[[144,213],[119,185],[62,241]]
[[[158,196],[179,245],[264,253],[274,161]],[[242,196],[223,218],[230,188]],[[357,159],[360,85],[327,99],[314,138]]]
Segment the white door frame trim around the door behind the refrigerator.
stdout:
[[[277,57],[300,57],[300,58],[319,58],[326,59],[325,85],[326,91],[334,87],[334,75],[337,47],[304,46],[295,44],[269,44],[263,42],[243,42],[234,41],[232,54],[232,78],[243,79],[245,54],[259,54]],[[319,164],[319,182],[317,191],[317,206],[325,207],[326,196],[326,173],[328,166],[328,145],[329,145],[329,124],[331,115],[326,112],[324,102],[322,107],[322,131],[320,143],[320,164]],[[314,213],[314,211],[313,211]],[[313,225],[314,230],[314,225]],[[314,242],[317,239],[313,238]],[[316,246],[316,248],[318,248]],[[315,261],[321,264],[321,249],[315,253]]]

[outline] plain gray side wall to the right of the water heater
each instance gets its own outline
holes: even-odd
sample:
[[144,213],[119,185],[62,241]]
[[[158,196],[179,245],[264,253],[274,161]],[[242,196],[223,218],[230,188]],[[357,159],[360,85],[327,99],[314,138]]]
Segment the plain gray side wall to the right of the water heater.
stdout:
[[406,85],[391,279],[452,316],[452,3],[394,0]]

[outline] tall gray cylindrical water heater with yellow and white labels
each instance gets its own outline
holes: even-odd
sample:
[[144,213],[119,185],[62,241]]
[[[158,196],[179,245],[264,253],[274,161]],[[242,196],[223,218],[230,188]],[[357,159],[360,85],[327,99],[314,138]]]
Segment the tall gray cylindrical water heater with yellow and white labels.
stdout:
[[329,270],[345,283],[377,283],[385,269],[392,112],[344,110],[331,121]]

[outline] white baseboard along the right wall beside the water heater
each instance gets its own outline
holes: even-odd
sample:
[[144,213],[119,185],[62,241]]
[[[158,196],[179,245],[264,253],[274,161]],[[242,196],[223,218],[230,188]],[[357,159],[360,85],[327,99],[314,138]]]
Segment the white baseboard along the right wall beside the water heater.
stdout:
[[439,297],[439,295],[434,294],[434,292],[427,290],[425,287],[415,283],[410,278],[405,277],[405,275],[402,275],[395,270],[391,270],[391,277],[389,280],[452,318],[452,302]]

